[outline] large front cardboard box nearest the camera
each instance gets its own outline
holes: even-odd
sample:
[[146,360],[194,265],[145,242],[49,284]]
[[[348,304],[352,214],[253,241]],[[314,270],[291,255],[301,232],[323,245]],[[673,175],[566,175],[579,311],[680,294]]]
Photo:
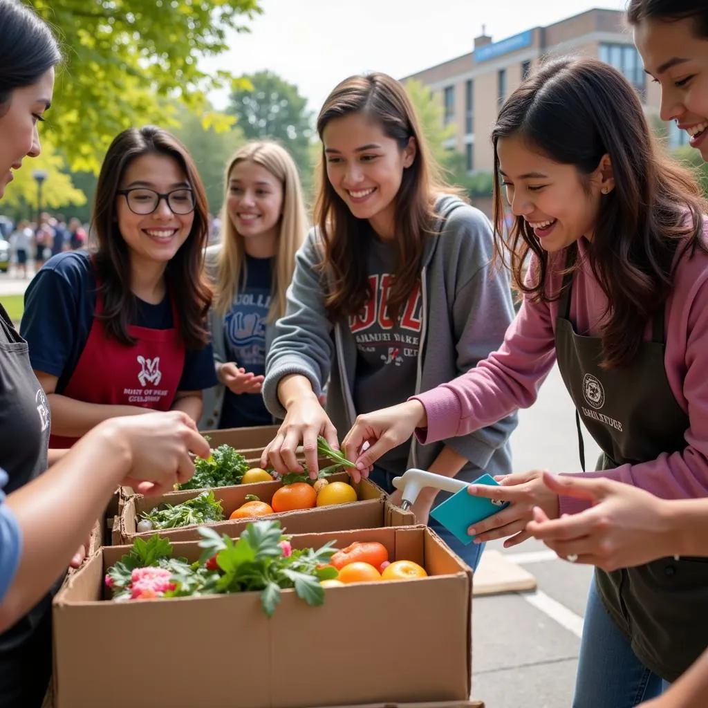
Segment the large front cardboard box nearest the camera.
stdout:
[[[299,535],[292,545],[332,539],[379,541],[430,577],[328,588],[320,607],[284,590],[268,618],[260,593],[105,602],[105,572],[130,547],[103,547],[54,601],[56,708],[469,700],[469,567],[423,526]],[[194,561],[200,548],[178,542],[174,555]]]

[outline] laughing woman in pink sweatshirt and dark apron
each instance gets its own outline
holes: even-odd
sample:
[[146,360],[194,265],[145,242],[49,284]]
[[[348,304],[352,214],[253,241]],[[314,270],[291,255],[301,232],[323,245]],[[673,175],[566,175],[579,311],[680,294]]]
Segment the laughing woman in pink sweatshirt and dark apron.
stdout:
[[[366,471],[415,428],[433,442],[489,425],[530,406],[557,360],[603,450],[589,476],[665,498],[705,496],[708,224],[700,190],[656,151],[632,86],[594,59],[550,62],[527,79],[492,139],[516,218],[506,247],[517,279],[532,253],[520,313],[501,349],[474,370],[362,416],[347,454]],[[365,441],[372,446],[362,452]],[[588,506],[549,490],[537,471],[502,484],[471,489],[511,502],[469,530],[477,541],[521,542],[534,506],[549,518]],[[708,564],[696,559],[598,569],[573,705],[624,708],[658,695],[705,648],[707,602]]]

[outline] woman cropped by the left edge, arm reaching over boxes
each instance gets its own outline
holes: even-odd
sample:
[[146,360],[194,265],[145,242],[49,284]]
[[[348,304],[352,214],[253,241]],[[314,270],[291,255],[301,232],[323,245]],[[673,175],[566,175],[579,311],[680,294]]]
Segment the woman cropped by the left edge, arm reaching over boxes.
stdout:
[[[15,0],[0,0],[0,37],[1,197],[12,171],[40,154],[37,125],[61,54],[47,25]],[[209,447],[184,413],[114,418],[65,455],[47,453],[49,429],[27,343],[0,306],[1,708],[41,704],[52,670],[50,588],[115,487],[160,493],[189,479],[189,452],[207,455]]]

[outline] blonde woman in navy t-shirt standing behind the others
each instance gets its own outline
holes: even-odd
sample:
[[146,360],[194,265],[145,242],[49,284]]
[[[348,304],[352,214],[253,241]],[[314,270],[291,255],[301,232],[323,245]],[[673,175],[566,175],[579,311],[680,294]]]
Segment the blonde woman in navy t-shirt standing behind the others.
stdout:
[[297,166],[277,143],[239,148],[225,182],[221,239],[207,249],[219,386],[205,395],[200,430],[273,424],[261,395],[265,354],[307,234]]

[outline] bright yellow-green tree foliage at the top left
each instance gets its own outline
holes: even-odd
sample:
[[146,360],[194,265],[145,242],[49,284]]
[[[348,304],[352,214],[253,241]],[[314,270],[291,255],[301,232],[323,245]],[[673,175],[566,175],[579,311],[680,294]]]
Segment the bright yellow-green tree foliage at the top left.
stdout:
[[258,0],[29,0],[56,30],[66,66],[59,71],[50,135],[72,170],[98,172],[120,131],[154,122],[177,125],[174,99],[205,113],[208,91],[241,82],[206,74],[200,56],[228,49],[229,30],[261,12]]

